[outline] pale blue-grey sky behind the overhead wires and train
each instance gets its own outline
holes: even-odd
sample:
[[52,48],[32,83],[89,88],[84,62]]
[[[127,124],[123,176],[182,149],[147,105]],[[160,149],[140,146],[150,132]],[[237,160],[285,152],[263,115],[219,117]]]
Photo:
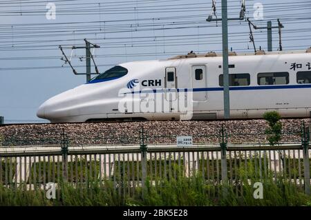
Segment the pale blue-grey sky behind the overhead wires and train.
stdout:
[[[41,103],[86,82],[86,76],[73,74],[62,61],[59,45],[82,73],[85,50],[70,48],[84,46],[84,39],[100,46],[93,52],[100,72],[118,63],[167,59],[191,50],[221,52],[221,23],[206,21],[211,2],[0,0],[0,116],[5,123],[45,122],[36,115]],[[311,0],[245,4],[245,17],[258,27],[267,21],[277,26],[280,19],[283,50],[311,46]],[[229,18],[238,17],[240,10],[241,1],[228,0]],[[221,18],[221,1],[216,1],[216,16]],[[256,48],[267,50],[266,30],[252,31]],[[273,50],[279,50],[278,31],[272,30]],[[254,51],[247,21],[229,21],[230,48]]]

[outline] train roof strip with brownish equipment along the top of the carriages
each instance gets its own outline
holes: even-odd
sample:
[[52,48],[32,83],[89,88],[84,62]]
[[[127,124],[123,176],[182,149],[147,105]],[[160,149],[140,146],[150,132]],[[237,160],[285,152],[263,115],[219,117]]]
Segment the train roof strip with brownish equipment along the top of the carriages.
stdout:
[[[311,47],[307,50],[285,50],[285,51],[272,51],[265,52],[265,50],[257,50],[256,52],[229,52],[229,57],[232,56],[254,56],[254,55],[272,55],[272,54],[302,54],[302,53],[311,53]],[[199,58],[199,57],[223,57],[222,53],[216,52],[207,52],[206,54],[196,54],[191,51],[186,55],[178,55],[176,57],[171,57],[169,59],[187,59],[187,58]]]

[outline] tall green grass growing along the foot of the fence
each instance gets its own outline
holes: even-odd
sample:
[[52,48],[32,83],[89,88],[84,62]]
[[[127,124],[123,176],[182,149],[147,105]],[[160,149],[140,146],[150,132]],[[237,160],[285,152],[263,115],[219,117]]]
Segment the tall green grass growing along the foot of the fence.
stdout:
[[[211,184],[198,173],[186,178],[147,179],[145,188],[126,183],[93,181],[73,186],[59,183],[57,199],[46,199],[44,190],[0,186],[0,206],[311,206],[311,196],[281,177],[262,179],[263,199],[254,199],[252,184],[259,181],[249,169],[239,170],[242,181],[234,185]],[[225,194],[223,194],[225,190]]]

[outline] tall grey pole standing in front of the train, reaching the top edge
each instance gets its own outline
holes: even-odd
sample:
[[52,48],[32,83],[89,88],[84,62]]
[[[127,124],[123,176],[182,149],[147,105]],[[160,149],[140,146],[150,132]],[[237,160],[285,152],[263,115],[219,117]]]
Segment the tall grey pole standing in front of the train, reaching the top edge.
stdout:
[[229,67],[228,67],[228,17],[227,0],[221,1],[222,28],[223,28],[223,107],[224,118],[230,118],[229,101]]

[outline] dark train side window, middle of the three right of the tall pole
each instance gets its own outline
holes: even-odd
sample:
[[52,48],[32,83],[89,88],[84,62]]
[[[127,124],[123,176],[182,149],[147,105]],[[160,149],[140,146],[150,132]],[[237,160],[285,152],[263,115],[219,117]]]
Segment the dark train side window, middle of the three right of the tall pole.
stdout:
[[258,85],[284,85],[290,83],[288,72],[259,72]]

